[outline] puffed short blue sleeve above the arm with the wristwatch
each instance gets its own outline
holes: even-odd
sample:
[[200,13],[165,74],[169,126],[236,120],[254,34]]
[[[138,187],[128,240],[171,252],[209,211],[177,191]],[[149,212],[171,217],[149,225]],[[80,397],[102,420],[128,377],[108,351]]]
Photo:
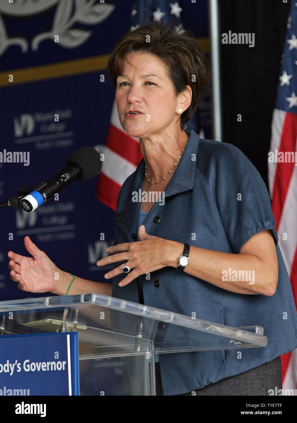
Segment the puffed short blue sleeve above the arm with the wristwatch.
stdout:
[[269,193],[260,173],[239,148],[228,143],[221,147],[215,159],[214,195],[234,253],[253,235],[268,229],[277,244]]

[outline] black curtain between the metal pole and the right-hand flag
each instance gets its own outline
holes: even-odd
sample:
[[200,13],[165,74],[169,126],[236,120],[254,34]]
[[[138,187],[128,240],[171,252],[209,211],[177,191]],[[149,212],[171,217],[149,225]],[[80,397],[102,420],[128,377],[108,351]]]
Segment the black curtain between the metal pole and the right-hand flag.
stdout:
[[289,9],[290,0],[219,1],[220,33],[255,33],[255,47],[221,44],[223,141],[250,159],[267,187],[271,121]]

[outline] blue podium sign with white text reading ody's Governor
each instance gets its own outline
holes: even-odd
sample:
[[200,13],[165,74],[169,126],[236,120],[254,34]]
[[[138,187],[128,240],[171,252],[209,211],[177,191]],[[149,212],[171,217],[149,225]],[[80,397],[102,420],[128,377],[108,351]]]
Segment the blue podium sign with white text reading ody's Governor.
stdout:
[[0,396],[79,395],[78,332],[0,336]]

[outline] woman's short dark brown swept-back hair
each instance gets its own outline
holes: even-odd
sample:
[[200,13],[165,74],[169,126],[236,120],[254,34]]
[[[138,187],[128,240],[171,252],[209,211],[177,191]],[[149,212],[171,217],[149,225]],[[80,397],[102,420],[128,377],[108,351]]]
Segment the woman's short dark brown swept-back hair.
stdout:
[[[146,42],[148,35],[150,42]],[[203,99],[211,78],[208,60],[199,40],[192,31],[177,29],[173,21],[168,25],[161,21],[146,22],[136,27],[119,39],[109,57],[107,71],[115,86],[117,77],[123,73],[122,62],[133,53],[151,53],[163,60],[176,96],[190,85],[192,102],[180,115],[180,127],[184,129]],[[196,81],[192,81],[193,76]]]

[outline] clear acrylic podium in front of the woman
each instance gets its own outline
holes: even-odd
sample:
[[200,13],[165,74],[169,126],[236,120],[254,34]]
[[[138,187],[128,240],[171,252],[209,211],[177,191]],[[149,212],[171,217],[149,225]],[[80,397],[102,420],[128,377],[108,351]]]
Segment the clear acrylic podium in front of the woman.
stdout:
[[78,332],[80,395],[155,395],[155,354],[263,347],[228,327],[100,294],[0,302],[0,335]]

